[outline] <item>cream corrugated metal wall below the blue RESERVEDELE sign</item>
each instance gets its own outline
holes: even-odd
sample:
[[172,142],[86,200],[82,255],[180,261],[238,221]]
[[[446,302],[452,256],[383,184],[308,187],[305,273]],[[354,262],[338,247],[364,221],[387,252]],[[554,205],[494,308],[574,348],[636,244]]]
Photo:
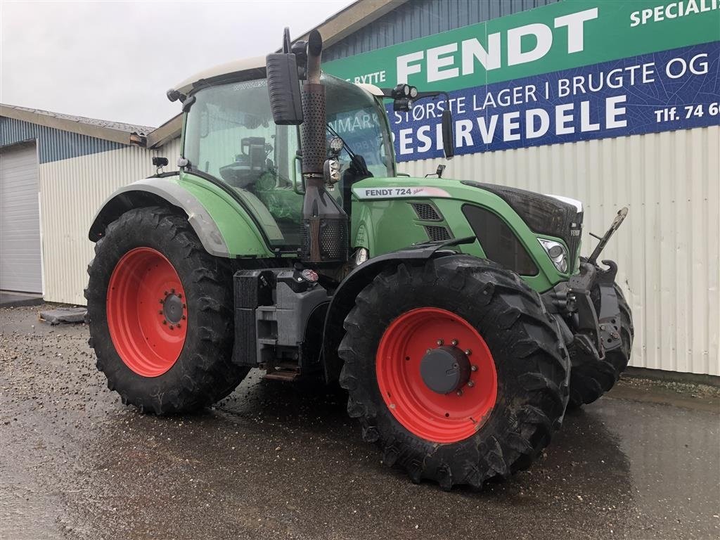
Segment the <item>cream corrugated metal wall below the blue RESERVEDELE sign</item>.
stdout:
[[634,314],[631,365],[720,375],[720,127],[399,163],[423,176],[446,163],[474,179],[585,204],[583,253],[616,211],[629,215],[603,252]]

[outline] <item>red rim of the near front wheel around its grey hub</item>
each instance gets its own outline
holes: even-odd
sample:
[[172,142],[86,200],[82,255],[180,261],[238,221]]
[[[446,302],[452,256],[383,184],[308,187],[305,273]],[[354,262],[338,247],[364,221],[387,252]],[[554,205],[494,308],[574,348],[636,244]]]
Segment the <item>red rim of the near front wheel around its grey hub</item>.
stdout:
[[[469,351],[473,370],[459,391],[433,392],[420,375],[420,361],[428,349],[438,347],[438,340]],[[392,415],[428,441],[454,443],[472,436],[498,397],[498,374],[485,340],[464,318],[436,307],[410,310],[392,321],[380,340],[375,368]]]

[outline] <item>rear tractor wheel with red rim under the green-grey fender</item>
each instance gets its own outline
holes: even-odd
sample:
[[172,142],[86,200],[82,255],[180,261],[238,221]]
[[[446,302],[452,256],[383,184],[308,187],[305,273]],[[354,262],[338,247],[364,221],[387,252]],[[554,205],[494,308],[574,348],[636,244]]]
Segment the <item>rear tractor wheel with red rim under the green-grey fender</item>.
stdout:
[[204,250],[186,217],[125,212],[95,244],[88,273],[89,343],[122,402],[156,414],[197,410],[248,373],[232,362],[230,266]]

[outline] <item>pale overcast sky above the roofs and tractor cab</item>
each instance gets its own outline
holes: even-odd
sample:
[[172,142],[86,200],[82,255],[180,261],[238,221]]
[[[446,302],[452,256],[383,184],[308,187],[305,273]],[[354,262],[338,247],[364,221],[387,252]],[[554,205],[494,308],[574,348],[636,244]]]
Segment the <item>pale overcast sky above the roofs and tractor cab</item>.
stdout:
[[352,0],[0,0],[0,102],[158,126],[165,91],[215,64],[279,48]]

